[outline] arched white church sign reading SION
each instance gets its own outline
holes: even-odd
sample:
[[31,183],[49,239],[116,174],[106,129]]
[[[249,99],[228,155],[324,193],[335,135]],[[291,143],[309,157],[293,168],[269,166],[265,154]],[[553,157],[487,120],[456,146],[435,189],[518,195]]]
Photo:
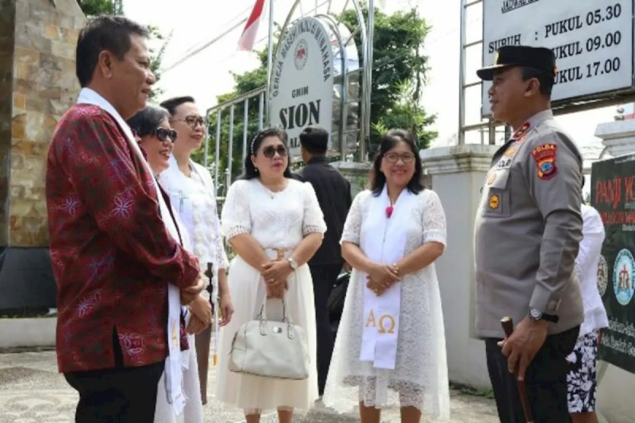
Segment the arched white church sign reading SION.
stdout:
[[287,131],[291,156],[300,156],[298,136],[307,126],[331,133],[333,49],[318,19],[302,18],[286,34],[274,60],[270,89],[271,126]]

